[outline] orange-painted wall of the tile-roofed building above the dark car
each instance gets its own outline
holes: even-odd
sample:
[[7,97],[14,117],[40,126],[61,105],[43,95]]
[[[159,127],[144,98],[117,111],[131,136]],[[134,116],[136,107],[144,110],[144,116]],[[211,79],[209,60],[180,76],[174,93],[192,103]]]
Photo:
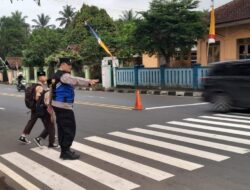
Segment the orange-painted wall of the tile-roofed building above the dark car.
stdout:
[[[220,61],[239,59],[237,40],[250,38],[250,24],[217,27],[216,34],[216,41],[220,41]],[[207,39],[198,41],[197,63],[207,65]]]

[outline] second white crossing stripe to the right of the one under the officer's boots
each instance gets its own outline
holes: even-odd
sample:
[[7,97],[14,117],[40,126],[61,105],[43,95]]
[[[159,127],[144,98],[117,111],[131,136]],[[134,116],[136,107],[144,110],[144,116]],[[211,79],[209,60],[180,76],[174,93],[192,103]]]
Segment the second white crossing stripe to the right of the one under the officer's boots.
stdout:
[[178,158],[174,158],[171,156],[163,155],[157,152],[145,150],[142,148],[130,146],[127,144],[119,143],[116,141],[108,140],[108,139],[97,137],[97,136],[87,137],[85,139],[92,141],[92,142],[100,143],[102,145],[106,145],[112,148],[123,150],[132,154],[136,154],[145,158],[149,158],[155,161],[159,161],[165,164],[169,164],[169,165],[176,166],[182,169],[186,169],[189,171],[203,167],[203,165],[200,165],[200,164],[181,160]]

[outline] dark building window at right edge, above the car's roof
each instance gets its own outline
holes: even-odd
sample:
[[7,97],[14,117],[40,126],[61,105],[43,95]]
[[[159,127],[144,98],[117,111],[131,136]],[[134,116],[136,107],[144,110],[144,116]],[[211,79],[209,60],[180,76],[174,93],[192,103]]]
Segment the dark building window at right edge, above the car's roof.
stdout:
[[250,38],[238,39],[238,58],[250,59]]

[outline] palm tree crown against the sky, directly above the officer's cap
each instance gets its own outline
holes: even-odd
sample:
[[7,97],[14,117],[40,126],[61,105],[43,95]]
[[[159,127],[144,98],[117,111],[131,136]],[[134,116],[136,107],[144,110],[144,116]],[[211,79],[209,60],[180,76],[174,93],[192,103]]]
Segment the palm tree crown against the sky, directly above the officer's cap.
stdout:
[[69,24],[72,22],[76,14],[74,10],[75,8],[72,8],[69,5],[63,7],[63,11],[59,12],[59,14],[62,15],[62,17],[56,19],[57,21],[61,22],[60,26],[65,26],[65,28],[69,26]]

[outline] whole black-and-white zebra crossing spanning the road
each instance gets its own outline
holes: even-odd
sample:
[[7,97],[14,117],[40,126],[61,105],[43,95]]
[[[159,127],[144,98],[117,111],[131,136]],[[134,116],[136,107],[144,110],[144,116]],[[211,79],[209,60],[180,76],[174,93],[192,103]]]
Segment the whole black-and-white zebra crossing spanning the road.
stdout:
[[[29,150],[36,155],[33,159],[31,155],[18,152],[0,155],[0,172],[15,181],[20,189],[96,189],[72,179],[68,173],[70,171],[77,173],[79,178],[82,176],[85,180],[92,180],[106,189],[143,189],[144,184],[137,179],[138,176],[149,182],[167,181],[182,175],[181,171],[202,170],[207,161],[210,164],[220,163],[231,157],[247,154],[250,152],[249,136],[250,115],[202,115],[198,118],[184,118],[182,121],[168,121],[161,125],[150,124],[126,131],[113,131],[73,143],[72,149],[104,164],[108,163],[113,166],[112,169],[95,165],[92,159],[61,160],[58,150],[44,147]],[[193,145],[195,148],[191,147]],[[179,154],[173,156],[173,152]],[[189,159],[180,155],[188,155]],[[54,171],[54,167],[44,164],[47,162],[59,165],[63,172]],[[154,163],[164,167],[157,167]],[[172,169],[168,171],[168,167]],[[119,172],[115,171],[117,168]],[[20,171],[26,175],[22,176]],[[127,179],[126,176],[130,174],[135,177]]]

